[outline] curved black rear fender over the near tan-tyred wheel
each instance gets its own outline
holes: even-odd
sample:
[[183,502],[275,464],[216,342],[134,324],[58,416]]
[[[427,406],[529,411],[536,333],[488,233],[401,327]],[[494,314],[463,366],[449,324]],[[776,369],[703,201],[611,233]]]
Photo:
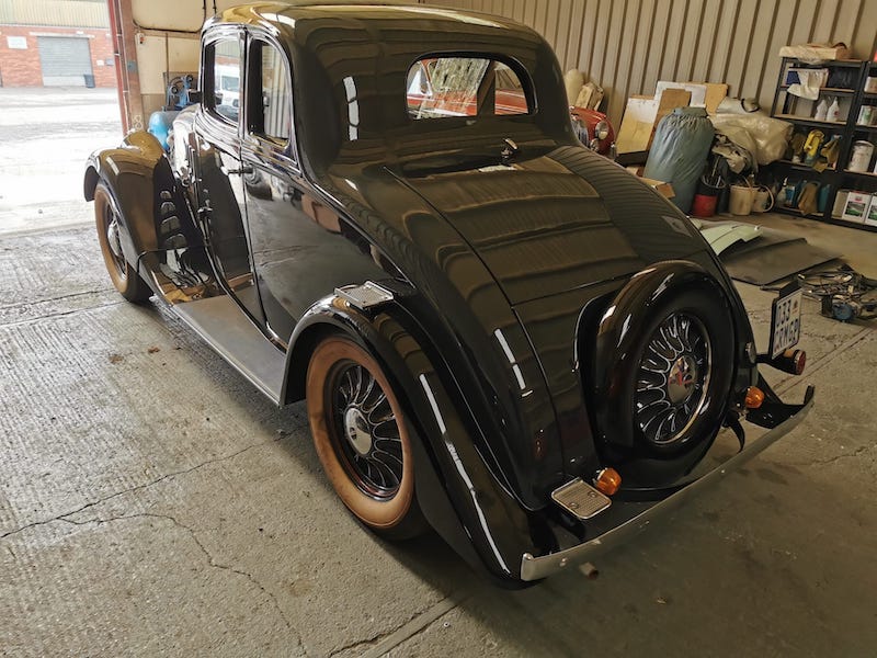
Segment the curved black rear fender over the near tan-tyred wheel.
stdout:
[[529,515],[491,474],[471,439],[478,428],[458,399],[462,393],[445,387],[448,378],[409,332],[405,310],[385,306],[365,313],[338,296],[308,310],[289,342],[281,399],[303,397],[309,353],[328,332],[362,342],[392,386],[405,392],[407,420],[420,439],[413,446],[415,491],[426,520],[470,566],[514,587],[521,555],[534,549]]

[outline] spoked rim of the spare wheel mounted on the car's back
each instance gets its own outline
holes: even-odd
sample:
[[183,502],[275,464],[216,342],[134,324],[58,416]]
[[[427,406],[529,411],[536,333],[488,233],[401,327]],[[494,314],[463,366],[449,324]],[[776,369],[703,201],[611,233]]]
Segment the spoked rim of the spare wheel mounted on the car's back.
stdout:
[[634,418],[646,439],[669,445],[683,439],[706,404],[711,345],[706,328],[684,313],[664,319],[642,353]]

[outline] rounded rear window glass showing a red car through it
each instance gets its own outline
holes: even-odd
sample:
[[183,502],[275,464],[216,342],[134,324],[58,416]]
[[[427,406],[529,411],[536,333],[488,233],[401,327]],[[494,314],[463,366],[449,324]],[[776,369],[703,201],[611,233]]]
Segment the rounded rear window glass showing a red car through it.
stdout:
[[411,118],[531,114],[517,73],[488,57],[428,57],[408,71]]

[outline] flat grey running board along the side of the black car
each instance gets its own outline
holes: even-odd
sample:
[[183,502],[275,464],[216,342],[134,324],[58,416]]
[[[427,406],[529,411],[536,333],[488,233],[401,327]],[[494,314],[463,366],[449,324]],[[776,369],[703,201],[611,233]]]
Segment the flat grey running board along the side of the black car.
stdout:
[[286,359],[228,295],[206,297],[171,308],[275,405]]

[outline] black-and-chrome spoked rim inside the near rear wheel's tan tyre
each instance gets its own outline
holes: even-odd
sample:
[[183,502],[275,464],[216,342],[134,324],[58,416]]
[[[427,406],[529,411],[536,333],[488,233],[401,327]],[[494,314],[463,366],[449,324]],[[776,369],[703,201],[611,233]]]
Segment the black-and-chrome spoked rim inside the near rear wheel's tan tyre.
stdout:
[[341,365],[333,379],[332,417],[348,473],[376,499],[402,481],[402,439],[387,394],[365,367]]

